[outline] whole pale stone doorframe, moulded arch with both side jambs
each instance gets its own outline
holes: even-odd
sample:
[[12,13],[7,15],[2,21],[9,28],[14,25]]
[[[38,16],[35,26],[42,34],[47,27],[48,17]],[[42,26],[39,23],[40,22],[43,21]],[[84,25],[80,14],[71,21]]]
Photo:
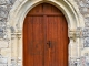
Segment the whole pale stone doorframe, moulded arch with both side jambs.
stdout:
[[81,31],[85,22],[73,0],[17,0],[9,13],[7,22],[9,26],[8,35],[10,36],[9,45],[11,46],[11,63],[14,62],[17,65],[22,66],[22,29],[24,18],[33,7],[43,2],[57,7],[67,19],[68,36],[70,38],[69,63],[71,58],[76,59],[80,57],[80,44],[82,44]]

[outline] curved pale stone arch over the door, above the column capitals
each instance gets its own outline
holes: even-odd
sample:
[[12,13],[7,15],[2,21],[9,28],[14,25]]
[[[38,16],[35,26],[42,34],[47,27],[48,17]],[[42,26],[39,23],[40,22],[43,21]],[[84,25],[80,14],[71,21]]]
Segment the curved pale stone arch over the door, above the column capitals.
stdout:
[[16,31],[22,30],[27,13],[36,6],[43,2],[53,4],[62,11],[67,19],[69,30],[85,26],[82,15],[77,10],[78,8],[75,8],[77,4],[71,4],[71,1],[68,0],[17,0],[9,13],[8,24],[13,26]]

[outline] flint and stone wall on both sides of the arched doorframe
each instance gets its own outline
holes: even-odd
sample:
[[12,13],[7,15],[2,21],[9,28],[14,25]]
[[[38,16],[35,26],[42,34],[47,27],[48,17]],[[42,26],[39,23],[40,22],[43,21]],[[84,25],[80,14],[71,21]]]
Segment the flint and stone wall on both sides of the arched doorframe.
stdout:
[[[0,0],[0,66],[17,66],[17,62],[11,57],[10,40],[7,38],[7,22],[9,12],[16,0]],[[83,45],[81,45],[81,56],[73,61],[71,58],[71,66],[89,66],[89,0],[75,0],[78,8],[85,18]],[[11,32],[13,29],[10,28]],[[12,64],[11,64],[12,63]]]

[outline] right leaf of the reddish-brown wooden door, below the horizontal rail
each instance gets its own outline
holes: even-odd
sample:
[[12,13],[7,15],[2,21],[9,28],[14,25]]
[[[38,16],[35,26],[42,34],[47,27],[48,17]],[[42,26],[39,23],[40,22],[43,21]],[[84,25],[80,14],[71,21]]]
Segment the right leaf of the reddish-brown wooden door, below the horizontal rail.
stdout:
[[47,41],[50,41],[49,66],[67,66],[67,23],[63,16],[47,18]]

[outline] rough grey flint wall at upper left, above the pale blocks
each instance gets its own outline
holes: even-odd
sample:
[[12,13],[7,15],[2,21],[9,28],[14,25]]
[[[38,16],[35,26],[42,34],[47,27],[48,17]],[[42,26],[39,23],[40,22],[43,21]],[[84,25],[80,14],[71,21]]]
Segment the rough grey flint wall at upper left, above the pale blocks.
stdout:
[[[14,2],[16,0],[0,0],[0,30],[6,30],[8,14]],[[4,34],[0,33],[0,38],[3,38]]]

